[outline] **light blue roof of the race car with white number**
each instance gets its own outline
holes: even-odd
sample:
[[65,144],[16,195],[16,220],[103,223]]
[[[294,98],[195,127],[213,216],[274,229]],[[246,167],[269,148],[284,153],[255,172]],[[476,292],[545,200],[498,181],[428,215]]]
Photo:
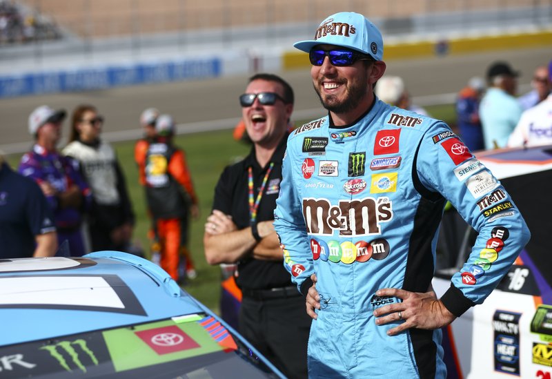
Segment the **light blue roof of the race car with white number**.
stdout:
[[0,346],[206,312],[135,255],[0,260]]

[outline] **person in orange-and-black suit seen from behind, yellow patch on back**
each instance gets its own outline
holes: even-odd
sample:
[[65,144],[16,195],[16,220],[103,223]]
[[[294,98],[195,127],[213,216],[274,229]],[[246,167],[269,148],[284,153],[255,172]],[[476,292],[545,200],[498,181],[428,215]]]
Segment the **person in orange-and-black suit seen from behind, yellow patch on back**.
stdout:
[[181,253],[186,260],[185,275],[189,279],[197,276],[188,251],[188,228],[190,214],[197,219],[199,207],[186,155],[172,143],[175,123],[170,115],[157,118],[155,133],[144,160],[146,199],[161,244],[161,268],[181,282],[184,279],[179,273]]

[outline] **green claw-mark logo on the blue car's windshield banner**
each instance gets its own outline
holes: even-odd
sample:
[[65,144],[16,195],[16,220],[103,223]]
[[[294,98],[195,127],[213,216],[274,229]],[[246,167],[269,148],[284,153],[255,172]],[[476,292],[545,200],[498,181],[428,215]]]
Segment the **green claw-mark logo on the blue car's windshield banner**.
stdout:
[[71,369],[73,366],[74,369],[79,369],[83,373],[86,373],[86,366],[82,360],[86,360],[87,363],[93,363],[95,366],[98,365],[94,352],[88,349],[86,341],[82,339],[61,341],[57,344],[43,346],[40,349],[48,351],[50,356],[55,358],[66,371],[73,371]]

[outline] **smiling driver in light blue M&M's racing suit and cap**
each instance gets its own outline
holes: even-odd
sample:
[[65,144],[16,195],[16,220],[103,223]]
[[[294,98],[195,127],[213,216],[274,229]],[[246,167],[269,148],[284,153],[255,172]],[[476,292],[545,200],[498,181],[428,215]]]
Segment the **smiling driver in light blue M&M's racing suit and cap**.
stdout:
[[[382,36],[362,14],[333,14],[295,47],[309,52],[329,111],[290,135],[275,210],[284,266],[315,319],[309,376],[445,378],[440,327],[484,301],[529,230],[449,126],[373,95],[386,65]],[[437,299],[446,200],[479,235]]]

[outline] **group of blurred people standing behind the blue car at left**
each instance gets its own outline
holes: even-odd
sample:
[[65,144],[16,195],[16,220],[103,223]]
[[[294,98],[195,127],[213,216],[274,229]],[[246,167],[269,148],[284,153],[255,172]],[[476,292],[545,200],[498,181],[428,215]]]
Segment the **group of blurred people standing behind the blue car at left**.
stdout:
[[[0,258],[79,257],[92,251],[144,256],[133,242],[135,213],[115,149],[101,138],[104,117],[81,104],[70,117],[68,144],[59,149],[66,110],[39,106],[28,117],[34,139],[17,173],[0,161]],[[144,138],[135,146],[139,184],[152,217],[150,237],[159,265],[174,280],[197,276],[188,251],[190,215],[199,217],[184,151],[172,143],[170,115],[140,115]]]

